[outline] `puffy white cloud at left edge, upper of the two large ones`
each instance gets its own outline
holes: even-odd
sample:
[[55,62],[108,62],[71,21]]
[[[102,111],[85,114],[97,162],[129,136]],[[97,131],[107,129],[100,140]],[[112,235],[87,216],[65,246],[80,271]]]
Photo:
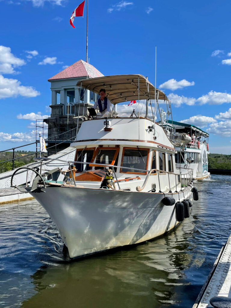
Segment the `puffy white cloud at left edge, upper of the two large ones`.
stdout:
[[10,47],[0,46],[0,73],[2,74],[14,74],[15,67],[25,65],[26,62],[22,59],[15,57],[11,53]]

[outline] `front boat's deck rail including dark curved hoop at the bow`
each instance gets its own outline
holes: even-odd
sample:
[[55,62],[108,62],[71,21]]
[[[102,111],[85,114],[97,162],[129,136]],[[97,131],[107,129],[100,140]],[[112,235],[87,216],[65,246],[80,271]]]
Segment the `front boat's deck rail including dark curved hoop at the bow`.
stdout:
[[[34,158],[35,161],[40,161],[41,163],[43,161],[49,161],[51,160],[50,158]],[[66,164],[69,165],[69,169],[66,171],[66,172],[71,172],[71,176],[72,176],[72,179],[73,179],[73,182],[74,182],[74,185],[75,187],[77,187],[76,185],[76,182],[75,182],[75,177],[73,175],[73,172],[72,172],[72,168],[71,168],[71,164],[92,164],[92,162],[88,163],[88,162],[80,162],[80,161],[66,161],[66,160],[61,160],[61,159],[52,159],[52,161],[60,161],[60,162],[64,162]],[[140,187],[140,186],[137,186],[136,187],[136,190],[138,192],[142,191],[144,189],[144,187],[146,186],[147,182],[148,182],[148,178],[151,174],[153,175],[157,175],[158,177],[158,183],[159,183],[159,192],[162,193],[162,189],[161,189],[161,183],[160,183],[160,174],[163,175],[163,174],[168,174],[168,185],[169,185],[169,192],[168,193],[173,193],[172,192],[172,189],[176,189],[174,192],[175,193],[178,193],[179,191],[182,191],[182,189],[185,190],[185,188],[189,188],[191,187],[190,185],[193,183],[193,170],[190,170],[189,172],[185,173],[185,174],[179,174],[179,173],[174,173],[174,172],[168,172],[168,171],[164,171],[164,170],[159,170],[159,169],[151,169],[151,170],[144,170],[144,169],[136,169],[136,168],[129,168],[129,167],[123,167],[123,166],[117,166],[117,165],[111,165],[111,164],[96,164],[94,163],[94,166],[99,166],[99,167],[107,167],[107,168],[111,168],[114,172],[114,175],[115,175],[115,180],[116,180],[116,184],[118,185],[118,188],[119,190],[121,189],[120,188],[120,184],[119,184],[119,181],[117,179],[117,176],[116,176],[116,172],[115,172],[115,169],[114,168],[123,168],[123,169],[128,169],[128,170],[136,170],[137,172],[148,172],[145,179],[144,179],[144,182],[143,182],[143,185]],[[36,173],[36,175],[38,175],[39,173],[37,171],[35,171],[34,169],[31,169],[31,168],[27,168],[27,167],[21,167],[19,169],[28,169],[28,170],[32,170]],[[15,175],[15,173],[19,170],[17,169],[13,175],[12,175],[12,178],[11,178],[11,187],[12,186],[12,183],[13,183],[13,176]],[[27,173],[28,173],[28,170],[27,170]],[[52,173],[54,172],[63,172],[61,169],[59,168],[55,168],[53,170],[50,170],[49,172],[45,172],[43,174],[41,174],[41,168],[40,168],[40,177],[42,176],[44,178],[44,176],[47,176],[48,174],[49,175],[52,175]],[[87,170],[86,171],[83,171],[84,172],[88,172]],[[171,187],[171,183],[170,183],[170,176],[174,176],[174,185],[172,185]],[[36,185],[37,183],[39,182],[39,178],[38,177],[35,177],[37,178],[36,180]],[[32,175],[31,175],[31,179],[32,179]],[[34,179],[35,180],[35,179]],[[33,180],[33,183],[32,183],[32,187],[34,188],[35,187],[35,184],[34,184],[34,180]],[[171,179],[172,180],[172,179]],[[46,185],[44,185],[44,181],[43,181],[43,187]],[[179,189],[179,184],[180,184],[180,190],[178,191],[177,188]],[[26,187],[28,187],[28,183],[27,183],[27,180],[26,180]],[[165,186],[166,187],[166,186]]]

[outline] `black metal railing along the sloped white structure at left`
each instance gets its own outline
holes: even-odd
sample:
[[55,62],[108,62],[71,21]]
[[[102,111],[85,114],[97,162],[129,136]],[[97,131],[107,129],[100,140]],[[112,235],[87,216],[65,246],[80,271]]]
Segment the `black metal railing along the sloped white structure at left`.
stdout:
[[[74,132],[74,131],[75,131],[75,132]],[[70,134],[70,136],[71,136],[70,138],[66,139],[66,138],[63,137],[63,140],[62,140],[62,139],[60,140],[60,139],[57,138],[57,137],[59,137],[59,136],[61,136],[61,135],[67,134],[67,133]],[[65,135],[64,135],[64,136],[65,136]],[[69,141],[69,142],[73,142],[73,141],[75,140],[75,136],[76,136],[76,128],[73,128],[73,129],[70,129],[70,130],[67,131],[67,132],[63,132],[63,133],[61,133],[61,134],[58,134],[58,135],[52,136],[52,137],[50,137],[50,138],[47,138],[47,139],[45,139],[45,142],[51,142],[51,143],[54,142],[54,143],[55,143],[54,145],[48,147],[47,150],[48,150],[48,149],[51,149],[51,148],[54,148],[54,149],[55,149],[55,151],[54,151],[55,153],[54,153],[54,154],[56,154],[56,153],[57,153],[57,145],[62,144],[62,143],[66,143],[66,142],[68,142],[68,141]],[[35,150],[35,152],[30,153],[30,154],[27,154],[27,155],[15,157],[15,149],[23,148],[23,147],[26,147],[26,146],[31,145],[31,144],[36,144],[36,150]],[[38,151],[38,144],[39,144],[39,140],[36,140],[35,142],[31,142],[31,143],[28,143],[28,144],[23,144],[23,145],[20,145],[20,146],[18,146],[18,147],[14,147],[14,148],[10,148],[10,149],[7,149],[7,150],[2,150],[2,151],[0,151],[0,153],[13,151],[13,153],[12,153],[12,154],[13,154],[13,157],[12,157],[12,159],[5,160],[5,161],[0,161],[0,164],[3,164],[3,163],[7,163],[7,162],[12,161],[12,170],[14,170],[14,162],[15,162],[15,160],[19,160],[19,159],[25,158],[25,157],[27,157],[27,156],[32,156],[32,155],[35,155],[36,158],[37,158],[38,153],[40,153],[40,151]]]

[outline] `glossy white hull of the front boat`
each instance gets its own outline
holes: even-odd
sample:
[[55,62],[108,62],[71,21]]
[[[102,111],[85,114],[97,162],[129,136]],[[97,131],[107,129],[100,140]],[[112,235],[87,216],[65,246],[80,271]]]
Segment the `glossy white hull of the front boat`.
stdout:
[[[147,241],[179,223],[162,193],[61,186],[30,194],[54,221],[71,258]],[[173,197],[178,201],[178,193]]]

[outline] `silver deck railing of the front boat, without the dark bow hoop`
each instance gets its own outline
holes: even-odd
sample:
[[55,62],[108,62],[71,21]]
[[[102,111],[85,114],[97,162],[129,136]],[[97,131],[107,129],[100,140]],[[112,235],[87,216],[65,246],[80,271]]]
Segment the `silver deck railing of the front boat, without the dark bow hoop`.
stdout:
[[[40,159],[37,158],[37,159],[34,159],[34,160],[39,161]],[[50,160],[50,158],[42,158],[42,160],[43,161],[44,160]],[[57,160],[57,161],[60,161],[60,162],[66,162],[66,163],[69,164],[71,176],[72,176],[72,179],[74,181],[75,186],[76,186],[75,177],[73,176],[71,164],[76,164],[76,163],[77,164],[88,164],[88,165],[93,164],[92,162],[88,163],[88,162],[80,162],[80,161],[66,161],[66,160],[60,160],[60,159],[53,159],[53,160]],[[182,190],[182,188],[185,189],[185,187],[190,186],[190,184],[193,182],[193,170],[190,170],[189,172],[187,172],[185,174],[179,174],[179,173],[168,172],[168,171],[159,170],[159,169],[144,170],[144,169],[136,169],[136,168],[130,168],[130,167],[123,167],[123,166],[116,166],[116,165],[111,165],[111,164],[96,164],[96,163],[94,163],[94,166],[110,167],[113,170],[114,174],[115,174],[116,183],[117,183],[119,189],[120,189],[120,184],[119,184],[119,181],[117,179],[116,172],[115,172],[114,168],[123,168],[123,169],[128,169],[128,170],[136,170],[137,172],[140,172],[140,171],[148,172],[148,174],[146,175],[146,177],[144,179],[144,183],[143,183],[142,187],[141,188],[140,188],[140,186],[136,187],[137,191],[142,191],[144,189],[144,187],[146,186],[146,184],[148,182],[148,178],[149,178],[149,176],[152,173],[153,173],[153,175],[155,175],[155,173],[156,173],[157,176],[158,176],[159,192],[161,192],[161,193],[162,193],[162,191],[161,191],[161,184],[160,184],[160,174],[162,174],[162,175],[163,174],[168,174],[169,193],[172,193],[171,188],[173,188],[173,187],[174,187],[174,189],[176,187],[176,191],[175,192],[178,192],[177,191],[177,185],[179,185],[179,184],[180,184],[180,188],[181,188],[180,190]],[[174,185],[172,185],[172,187],[171,187],[169,175],[174,175],[174,177],[175,177],[175,183],[174,183]]]

